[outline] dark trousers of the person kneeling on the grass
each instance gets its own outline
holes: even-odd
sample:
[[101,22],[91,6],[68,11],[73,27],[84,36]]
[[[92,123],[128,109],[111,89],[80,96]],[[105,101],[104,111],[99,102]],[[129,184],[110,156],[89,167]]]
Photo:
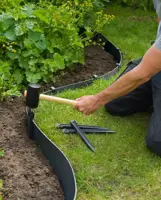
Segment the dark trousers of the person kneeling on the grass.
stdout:
[[[133,69],[140,60],[130,64],[122,74]],[[153,106],[154,110],[148,123],[145,141],[150,150],[161,156],[161,72],[129,94],[106,104],[105,109],[112,115],[127,116],[148,111],[150,106]]]

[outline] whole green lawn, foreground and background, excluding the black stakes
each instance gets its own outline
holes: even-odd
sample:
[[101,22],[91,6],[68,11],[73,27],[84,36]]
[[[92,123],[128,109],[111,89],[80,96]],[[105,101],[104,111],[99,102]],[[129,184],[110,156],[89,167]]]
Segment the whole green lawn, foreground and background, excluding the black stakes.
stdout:
[[[113,6],[107,12],[114,13],[116,19],[102,32],[121,49],[124,65],[141,57],[155,39],[157,25],[150,17],[154,14]],[[137,18],[139,15],[144,16],[142,20]],[[113,80],[97,80],[92,86],[59,96],[75,99],[95,94]],[[149,152],[144,142],[147,113],[120,118],[110,116],[101,108],[87,117],[70,105],[41,101],[35,117],[39,127],[71,161],[78,184],[78,200],[160,200],[161,159]],[[56,129],[56,123],[69,123],[73,119],[80,124],[108,127],[116,134],[88,135],[96,148],[93,153],[79,136],[63,135]]]

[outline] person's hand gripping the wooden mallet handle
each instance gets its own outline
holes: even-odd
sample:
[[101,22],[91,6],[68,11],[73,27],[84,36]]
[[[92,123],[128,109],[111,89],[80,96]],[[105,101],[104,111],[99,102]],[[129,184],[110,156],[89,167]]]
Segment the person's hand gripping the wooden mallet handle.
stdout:
[[76,99],[76,101],[74,109],[85,115],[90,115],[102,106],[96,95],[82,96]]

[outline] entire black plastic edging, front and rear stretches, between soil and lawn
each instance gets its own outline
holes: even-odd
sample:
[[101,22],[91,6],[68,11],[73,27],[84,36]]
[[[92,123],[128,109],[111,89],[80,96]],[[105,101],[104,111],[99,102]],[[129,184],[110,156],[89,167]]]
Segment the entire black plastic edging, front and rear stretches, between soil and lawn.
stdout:
[[[104,74],[99,77],[94,77],[86,81],[78,82],[76,84],[65,85],[59,88],[51,88],[51,90],[44,93],[57,93],[62,92],[67,89],[75,89],[80,87],[85,87],[90,85],[96,78],[108,79],[112,75],[116,74],[122,62],[122,56],[118,48],[116,48],[109,40],[107,40],[102,34],[97,33],[94,37],[95,41],[101,39],[105,42],[105,51],[113,55],[116,61],[116,68],[107,74]],[[75,200],[77,194],[77,185],[74,170],[64,155],[64,153],[40,130],[37,124],[34,121],[34,113],[30,108],[26,108],[27,113],[27,123],[28,123],[28,136],[31,139],[34,139],[41,151],[44,153],[46,158],[49,160],[52,168],[57,174],[60,184],[62,186],[65,200]]]

